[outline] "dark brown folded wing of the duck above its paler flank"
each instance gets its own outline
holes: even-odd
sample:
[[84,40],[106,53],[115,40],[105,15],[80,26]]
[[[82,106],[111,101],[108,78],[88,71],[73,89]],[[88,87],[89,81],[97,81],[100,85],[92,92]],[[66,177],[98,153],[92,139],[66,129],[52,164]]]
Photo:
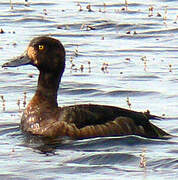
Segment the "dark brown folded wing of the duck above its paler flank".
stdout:
[[152,118],[152,115],[144,114],[142,112],[95,104],[66,106],[61,109],[61,112],[61,118],[64,121],[74,123],[78,128],[104,124],[113,121],[120,116],[132,118],[137,125],[148,124],[149,119]]

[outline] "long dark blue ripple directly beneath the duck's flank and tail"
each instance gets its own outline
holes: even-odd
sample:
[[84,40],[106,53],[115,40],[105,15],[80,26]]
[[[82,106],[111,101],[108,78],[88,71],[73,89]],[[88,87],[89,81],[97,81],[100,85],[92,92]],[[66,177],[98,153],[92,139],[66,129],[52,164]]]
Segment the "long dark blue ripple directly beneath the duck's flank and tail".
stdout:
[[[122,149],[125,151],[128,150],[129,147],[135,147],[136,145],[176,145],[177,143],[169,140],[155,140],[143,138],[135,135],[129,136],[121,136],[121,137],[98,137],[98,138],[90,138],[84,140],[77,141],[64,141],[62,144],[56,144],[57,149],[69,150],[73,149],[75,151],[82,152],[114,152],[121,151]],[[126,149],[125,149],[126,147]]]

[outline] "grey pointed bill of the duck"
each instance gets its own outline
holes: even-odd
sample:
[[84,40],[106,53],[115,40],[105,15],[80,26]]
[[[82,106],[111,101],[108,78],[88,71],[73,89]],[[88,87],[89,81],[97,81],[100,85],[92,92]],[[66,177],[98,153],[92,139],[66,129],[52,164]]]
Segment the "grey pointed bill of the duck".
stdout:
[[5,63],[2,65],[2,67],[17,67],[17,66],[23,66],[30,64],[30,58],[26,53],[22,54],[21,56],[18,56],[11,61]]

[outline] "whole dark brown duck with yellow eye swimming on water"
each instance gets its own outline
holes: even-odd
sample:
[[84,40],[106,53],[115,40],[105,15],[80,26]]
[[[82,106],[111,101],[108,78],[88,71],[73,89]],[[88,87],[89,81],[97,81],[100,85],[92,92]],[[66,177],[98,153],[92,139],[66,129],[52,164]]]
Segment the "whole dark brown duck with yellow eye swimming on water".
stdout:
[[23,132],[47,137],[86,139],[136,135],[167,138],[170,134],[150,122],[161,119],[147,112],[101,104],[58,107],[57,93],[65,69],[65,48],[50,36],[35,37],[27,50],[2,67],[32,65],[39,70],[36,92],[23,112]]

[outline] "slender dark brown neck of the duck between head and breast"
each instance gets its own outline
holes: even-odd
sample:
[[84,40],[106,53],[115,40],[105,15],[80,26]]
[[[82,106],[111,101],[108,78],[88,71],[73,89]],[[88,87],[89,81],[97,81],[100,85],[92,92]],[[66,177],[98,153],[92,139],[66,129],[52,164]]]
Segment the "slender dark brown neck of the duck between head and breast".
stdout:
[[38,87],[31,103],[57,108],[57,91],[61,81],[62,73],[47,73],[40,71]]

